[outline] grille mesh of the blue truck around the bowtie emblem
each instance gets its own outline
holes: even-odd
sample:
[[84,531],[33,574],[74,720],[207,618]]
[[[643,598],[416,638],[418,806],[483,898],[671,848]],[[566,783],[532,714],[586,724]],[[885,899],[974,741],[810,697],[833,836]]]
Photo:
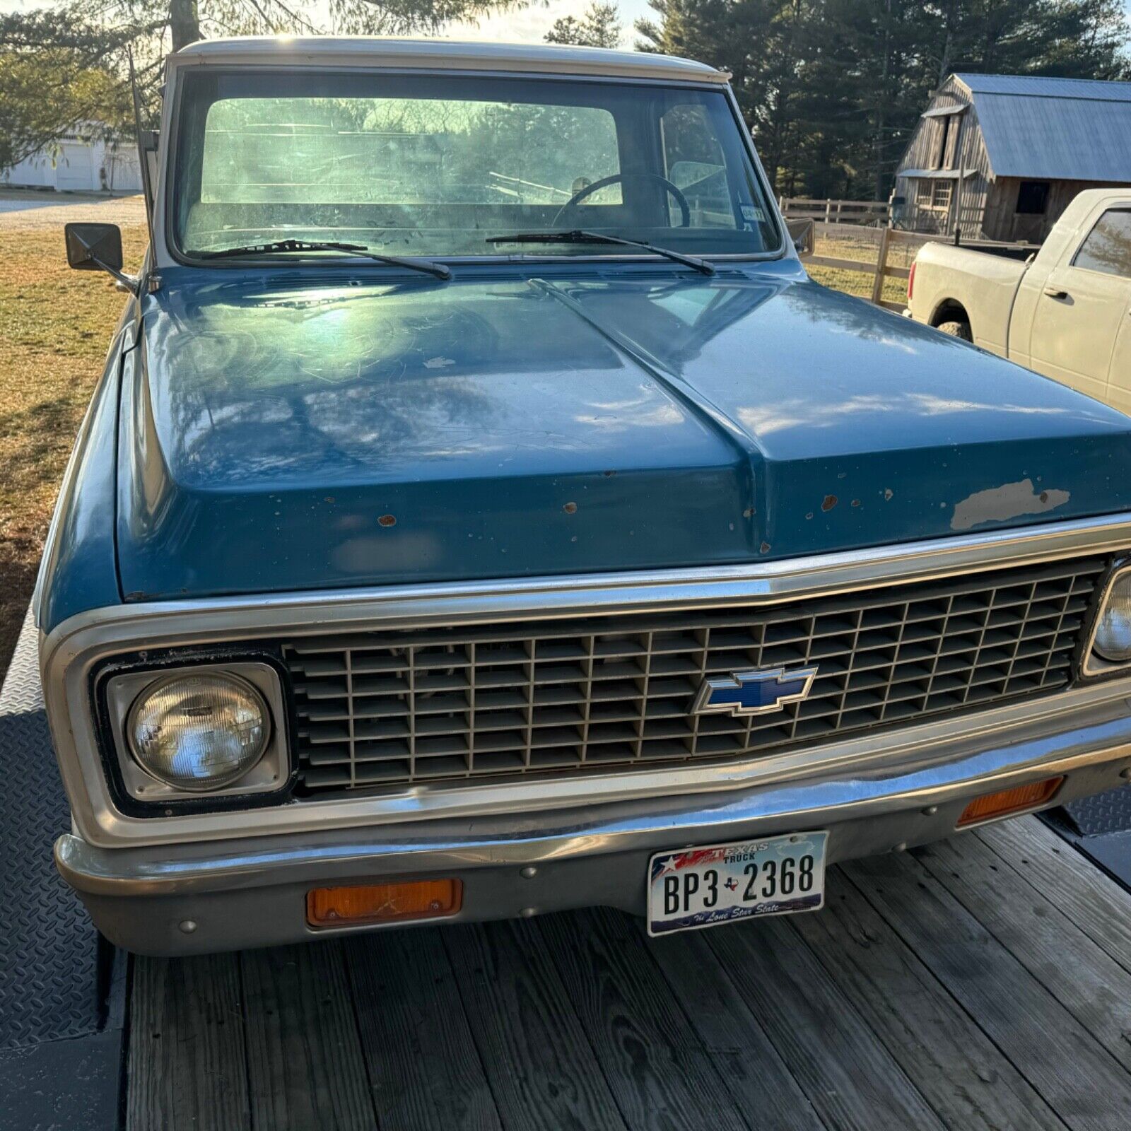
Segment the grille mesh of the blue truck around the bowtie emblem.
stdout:
[[[1106,568],[1074,560],[770,606],[283,645],[300,782],[327,791],[725,760],[1061,688]],[[703,679],[815,664],[808,699],[691,715]]]

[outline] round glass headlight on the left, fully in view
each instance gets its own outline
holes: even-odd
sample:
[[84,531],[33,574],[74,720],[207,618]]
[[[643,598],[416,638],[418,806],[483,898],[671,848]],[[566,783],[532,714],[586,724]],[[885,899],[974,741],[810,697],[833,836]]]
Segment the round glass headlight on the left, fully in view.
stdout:
[[264,756],[264,697],[234,675],[158,680],[130,708],[127,734],[138,765],[158,782],[202,792],[238,782]]

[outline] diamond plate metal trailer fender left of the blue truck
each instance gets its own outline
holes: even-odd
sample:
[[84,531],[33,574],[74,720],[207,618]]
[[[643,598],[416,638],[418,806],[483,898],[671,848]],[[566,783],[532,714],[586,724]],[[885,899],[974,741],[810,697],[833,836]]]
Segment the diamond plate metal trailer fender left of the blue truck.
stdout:
[[36,631],[24,624],[0,691],[0,1050],[94,1034],[94,927],[51,857],[70,827],[40,688]]

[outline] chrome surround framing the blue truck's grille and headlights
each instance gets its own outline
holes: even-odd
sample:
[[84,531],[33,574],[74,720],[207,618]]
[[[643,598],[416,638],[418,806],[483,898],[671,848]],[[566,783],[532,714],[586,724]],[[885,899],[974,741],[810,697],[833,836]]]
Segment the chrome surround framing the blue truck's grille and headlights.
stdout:
[[103,778],[90,718],[92,667],[139,648],[201,646],[259,637],[325,633],[382,624],[486,623],[500,619],[554,619],[670,611],[735,603],[777,604],[798,597],[854,592],[998,569],[1007,566],[1105,554],[1131,546],[1131,516],[994,530],[741,566],[601,573],[535,579],[389,586],[383,589],[290,593],[250,597],[167,601],[97,608],[57,627],[42,644],[44,696],[63,784],[80,836],[122,846],[239,836],[284,829],[330,828],[420,818],[483,815],[562,809],[673,793],[733,789],[784,780],[846,760],[861,768],[930,758],[949,737],[994,733],[1034,719],[1053,719],[1085,705],[1131,696],[1131,677],[1085,685],[1035,701],[1024,700],[960,718],[891,732],[877,752],[867,732],[837,743],[760,756],[722,766],[653,767],[607,775],[412,786],[380,796],[305,802],[247,813],[206,813],[136,819],[114,808]]

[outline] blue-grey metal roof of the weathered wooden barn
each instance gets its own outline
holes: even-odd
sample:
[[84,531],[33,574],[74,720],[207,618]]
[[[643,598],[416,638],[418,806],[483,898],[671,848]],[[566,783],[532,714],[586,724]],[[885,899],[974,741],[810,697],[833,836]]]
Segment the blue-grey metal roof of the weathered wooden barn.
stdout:
[[970,92],[995,176],[1131,183],[1131,83],[955,78]]

